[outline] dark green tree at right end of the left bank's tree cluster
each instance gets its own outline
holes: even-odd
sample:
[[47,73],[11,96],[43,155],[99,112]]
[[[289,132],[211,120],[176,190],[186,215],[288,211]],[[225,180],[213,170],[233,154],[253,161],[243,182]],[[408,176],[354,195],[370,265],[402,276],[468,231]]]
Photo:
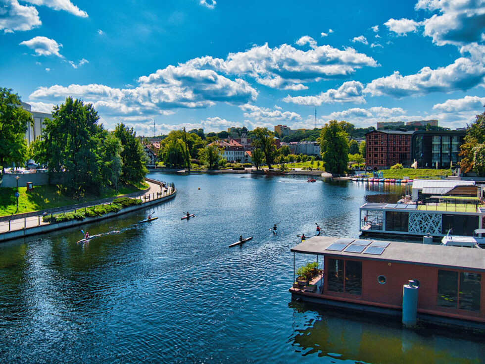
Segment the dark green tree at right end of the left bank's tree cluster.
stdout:
[[123,147],[120,154],[123,163],[120,180],[132,184],[143,182],[148,173],[145,167],[147,158],[137,133],[133,128],[119,123],[114,129],[114,136],[120,140]]

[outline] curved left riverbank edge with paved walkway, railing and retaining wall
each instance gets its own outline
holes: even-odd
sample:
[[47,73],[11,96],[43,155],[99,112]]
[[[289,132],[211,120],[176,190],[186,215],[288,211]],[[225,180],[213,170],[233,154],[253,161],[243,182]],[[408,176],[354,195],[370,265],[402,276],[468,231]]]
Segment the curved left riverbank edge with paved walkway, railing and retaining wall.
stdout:
[[[173,199],[176,196],[176,189],[175,186],[165,186],[165,183],[146,178],[146,182],[149,184],[149,188],[146,189],[144,195],[135,197],[136,199],[140,199],[142,202],[140,205],[130,206],[126,208],[122,208],[116,212],[109,212],[107,214],[95,217],[85,217],[83,219],[74,219],[65,222],[46,222],[43,221],[43,216],[47,215],[47,213],[38,213],[33,216],[23,216],[21,218],[9,219],[7,221],[3,221],[0,223],[0,242],[16,239],[20,237],[26,237],[31,235],[38,235],[47,233],[54,230],[64,229],[72,226],[78,226],[98,220],[104,220],[110,217],[118,216],[125,214],[127,212],[135,211],[141,208],[146,208],[151,205],[155,205],[158,203],[162,203],[168,200]],[[103,203],[104,204],[104,203]],[[102,205],[102,204],[96,204]],[[91,206],[96,206],[91,205]],[[71,206],[71,208],[66,208],[64,212],[76,212],[79,209],[79,206]],[[82,208],[88,208],[88,206],[83,206]],[[39,212],[39,211],[38,211]],[[52,212],[51,212],[52,216]]]

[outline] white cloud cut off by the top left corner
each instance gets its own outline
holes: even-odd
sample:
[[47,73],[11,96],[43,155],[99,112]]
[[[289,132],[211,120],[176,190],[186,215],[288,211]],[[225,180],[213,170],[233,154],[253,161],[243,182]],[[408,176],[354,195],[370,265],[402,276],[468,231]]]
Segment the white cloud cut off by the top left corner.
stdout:
[[17,0],[2,1],[0,7],[0,30],[12,33],[27,31],[42,25],[39,11],[34,6],[20,5]]

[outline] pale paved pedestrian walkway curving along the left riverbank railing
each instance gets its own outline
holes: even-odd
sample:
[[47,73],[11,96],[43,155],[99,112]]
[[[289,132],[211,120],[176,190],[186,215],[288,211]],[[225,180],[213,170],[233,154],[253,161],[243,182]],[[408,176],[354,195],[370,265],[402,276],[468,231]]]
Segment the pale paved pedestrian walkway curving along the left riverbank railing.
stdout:
[[[160,183],[160,182],[158,182],[158,183],[156,183],[156,181],[151,182],[151,180],[150,181],[145,180],[145,182],[149,185],[150,189],[148,191],[146,191],[145,193],[141,192],[139,196],[132,197],[132,198],[141,199],[143,203],[146,203],[146,202],[153,201],[157,198],[164,197],[164,196],[167,196],[167,195],[170,194],[169,187],[163,187],[163,186],[159,185],[158,183]],[[106,203],[106,204],[108,204],[108,203]],[[89,207],[99,206],[99,205],[100,204],[91,205]],[[86,208],[89,208],[89,207],[86,207]],[[79,210],[83,210],[83,209],[86,210],[86,208],[74,209],[74,208],[70,208],[69,206],[66,206],[66,209],[64,211],[55,212],[53,214],[58,214],[58,213],[62,213],[62,212],[75,212],[75,211],[79,211]],[[45,213],[45,215],[47,215],[47,214]],[[13,215],[13,216],[15,216],[15,215]],[[2,221],[2,222],[0,222],[0,234],[8,232],[8,231],[16,231],[16,230],[22,230],[22,229],[26,229],[26,228],[30,228],[30,227],[49,225],[50,224],[49,222],[44,222],[42,220],[43,216],[44,216],[44,214],[39,214],[39,215],[35,215],[35,216],[30,216],[30,217],[13,218],[13,219],[8,220],[8,221]]]

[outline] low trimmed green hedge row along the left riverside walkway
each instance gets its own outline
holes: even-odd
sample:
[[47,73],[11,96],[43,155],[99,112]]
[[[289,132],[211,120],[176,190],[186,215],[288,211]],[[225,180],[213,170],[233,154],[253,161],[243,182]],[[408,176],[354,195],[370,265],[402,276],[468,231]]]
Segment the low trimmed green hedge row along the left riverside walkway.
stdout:
[[114,199],[111,204],[91,206],[86,209],[81,209],[76,212],[56,213],[55,215],[46,215],[42,219],[44,222],[66,222],[71,220],[84,220],[85,217],[102,216],[110,212],[118,212],[122,208],[129,206],[141,205],[142,201],[137,199],[130,199],[128,197],[121,197]]

